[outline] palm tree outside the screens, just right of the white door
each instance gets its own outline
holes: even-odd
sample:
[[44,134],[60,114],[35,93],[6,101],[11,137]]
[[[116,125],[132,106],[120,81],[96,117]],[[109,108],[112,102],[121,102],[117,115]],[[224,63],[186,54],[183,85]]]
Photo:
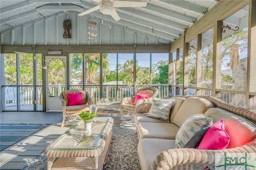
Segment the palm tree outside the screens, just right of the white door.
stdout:
[[[108,63],[108,54],[103,54],[103,68],[107,69],[109,67]],[[74,54],[71,68],[74,70],[79,70],[82,68],[83,63],[83,54]],[[84,80],[84,76],[86,77],[86,84],[94,84],[94,78],[97,70],[100,69],[100,53],[86,53],[85,54],[85,75],[82,71],[81,82]]]

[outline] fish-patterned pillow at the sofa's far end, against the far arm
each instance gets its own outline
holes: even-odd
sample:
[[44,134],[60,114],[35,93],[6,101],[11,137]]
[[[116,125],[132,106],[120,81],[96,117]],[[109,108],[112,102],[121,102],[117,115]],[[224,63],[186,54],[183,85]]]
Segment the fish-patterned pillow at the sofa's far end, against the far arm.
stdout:
[[169,122],[170,111],[174,101],[174,99],[158,99],[153,97],[152,106],[147,116]]

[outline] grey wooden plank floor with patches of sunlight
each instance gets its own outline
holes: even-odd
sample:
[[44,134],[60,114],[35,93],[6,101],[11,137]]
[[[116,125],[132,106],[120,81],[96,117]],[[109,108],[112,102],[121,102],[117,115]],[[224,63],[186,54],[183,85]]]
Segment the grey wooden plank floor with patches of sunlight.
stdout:
[[[100,117],[112,117],[113,126],[135,126],[130,116],[120,118],[119,110],[98,110]],[[50,141],[64,133],[72,123],[67,123],[63,128],[61,112],[0,112],[0,124],[38,124],[48,126],[24,138],[20,142],[0,152],[1,170],[21,170],[28,162],[43,152]]]

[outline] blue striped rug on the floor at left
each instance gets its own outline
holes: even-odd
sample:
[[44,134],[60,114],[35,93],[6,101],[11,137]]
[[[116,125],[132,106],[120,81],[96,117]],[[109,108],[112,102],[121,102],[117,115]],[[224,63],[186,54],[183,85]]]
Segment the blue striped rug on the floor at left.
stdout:
[[0,151],[48,125],[0,125]]

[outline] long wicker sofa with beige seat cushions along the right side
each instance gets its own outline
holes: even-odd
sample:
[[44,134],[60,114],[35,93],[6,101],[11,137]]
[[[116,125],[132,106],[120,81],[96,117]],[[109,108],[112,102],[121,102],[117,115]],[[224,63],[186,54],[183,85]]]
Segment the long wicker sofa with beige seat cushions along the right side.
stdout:
[[[194,170],[214,167],[216,154],[256,153],[256,112],[211,96],[175,96],[170,122],[137,113],[138,156],[142,170]],[[224,120],[230,143],[226,149],[176,148],[175,137],[188,117],[202,113],[215,123]]]

